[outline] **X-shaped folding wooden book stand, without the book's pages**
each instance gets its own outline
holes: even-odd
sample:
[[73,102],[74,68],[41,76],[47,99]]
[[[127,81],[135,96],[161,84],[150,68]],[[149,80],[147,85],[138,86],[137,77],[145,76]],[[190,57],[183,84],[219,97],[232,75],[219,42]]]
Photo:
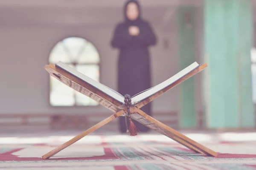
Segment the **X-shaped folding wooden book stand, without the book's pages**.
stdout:
[[[206,154],[208,156],[217,156],[218,154],[214,152],[213,150],[210,150],[209,148],[199,144],[198,142],[195,142],[194,140],[186,137],[185,135],[177,132],[176,130],[172,129],[171,127],[168,127],[167,125],[164,125],[163,123],[159,122],[158,120],[154,119],[153,117],[149,116],[140,108],[142,108],[144,105],[148,104],[149,102],[153,101],[166,91],[170,90],[171,88],[175,87],[176,85],[180,84],[181,82],[185,81],[189,77],[192,77],[193,75],[197,74],[198,72],[202,71],[204,68],[207,67],[207,64],[201,65],[189,74],[186,74],[186,76],[178,79],[175,83],[172,83],[171,85],[167,86],[163,90],[157,92],[156,94],[153,94],[152,96],[148,97],[147,99],[143,100],[142,102],[138,103],[135,106],[130,107],[131,111],[131,118],[136,120],[137,122],[140,122],[141,124],[157,131],[158,133],[161,133],[174,141],[182,144],[183,146],[189,148],[190,150],[193,150],[196,153],[202,153]],[[83,94],[90,96],[93,98],[93,95],[100,96],[100,104],[104,105],[108,109],[116,112],[115,114],[109,116],[107,119],[99,122],[98,124],[94,125],[93,127],[89,128],[88,130],[84,131],[83,133],[79,134],[78,136],[74,137],[73,139],[67,141],[66,143],[56,147],[54,150],[50,151],[49,153],[42,156],[43,159],[49,159],[50,157],[54,156],[56,153],[60,152],[61,150],[65,149],[66,147],[70,146],[71,144],[77,142],[78,140],[82,139],[84,136],[87,136],[88,134],[92,133],[96,129],[99,129],[103,125],[106,125],[107,123],[111,122],[113,119],[124,115],[127,110],[124,109],[118,109],[121,104],[119,102],[114,101],[109,96],[103,94],[101,91],[98,91],[91,87],[90,85],[87,85],[80,79],[74,77],[71,74],[68,74],[67,72],[55,68],[54,65],[46,65],[45,69],[54,77],[58,78],[60,81],[64,82],[65,84],[69,85],[70,87],[74,88],[75,90],[82,92]],[[74,85],[75,83],[75,85]],[[72,86],[73,85],[73,86]],[[80,88],[79,88],[80,85]],[[90,94],[88,92],[84,92],[81,90],[81,88],[86,88],[88,91],[90,91]],[[110,104],[111,103],[111,104]]]

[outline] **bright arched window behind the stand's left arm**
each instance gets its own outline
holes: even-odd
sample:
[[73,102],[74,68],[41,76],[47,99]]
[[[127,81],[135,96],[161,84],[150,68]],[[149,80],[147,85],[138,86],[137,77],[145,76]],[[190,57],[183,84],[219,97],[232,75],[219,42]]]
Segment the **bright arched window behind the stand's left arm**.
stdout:
[[[69,37],[58,42],[49,56],[49,63],[64,62],[82,74],[99,82],[99,53],[95,46],[79,37]],[[50,105],[96,106],[93,99],[74,91],[54,77],[50,77]]]

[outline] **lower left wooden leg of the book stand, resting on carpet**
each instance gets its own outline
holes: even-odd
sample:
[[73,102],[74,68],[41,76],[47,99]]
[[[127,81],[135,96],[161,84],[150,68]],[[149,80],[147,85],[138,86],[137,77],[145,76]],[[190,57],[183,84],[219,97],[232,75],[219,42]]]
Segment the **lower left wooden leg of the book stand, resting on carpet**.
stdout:
[[73,139],[71,139],[71,140],[67,141],[66,143],[56,147],[54,150],[52,150],[49,153],[42,156],[42,158],[43,159],[49,159],[50,157],[54,156],[56,153],[60,152],[61,150],[65,149],[66,147],[70,146],[71,144],[73,144],[73,143],[77,142],[78,140],[82,139],[84,136],[86,136],[86,135],[92,133],[93,131],[99,129],[103,125],[106,125],[108,122],[111,122],[113,119],[121,116],[123,113],[125,113],[125,111],[122,110],[122,111],[119,111],[119,112],[109,116],[107,119],[102,120],[101,122],[97,123],[93,127],[90,127],[89,129],[85,130],[83,133],[77,135]]

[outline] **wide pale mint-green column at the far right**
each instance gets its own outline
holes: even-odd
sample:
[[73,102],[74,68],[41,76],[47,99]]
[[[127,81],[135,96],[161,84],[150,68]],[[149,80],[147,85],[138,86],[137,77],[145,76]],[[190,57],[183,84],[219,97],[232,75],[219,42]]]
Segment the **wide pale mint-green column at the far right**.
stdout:
[[250,0],[204,0],[204,96],[209,128],[254,126]]

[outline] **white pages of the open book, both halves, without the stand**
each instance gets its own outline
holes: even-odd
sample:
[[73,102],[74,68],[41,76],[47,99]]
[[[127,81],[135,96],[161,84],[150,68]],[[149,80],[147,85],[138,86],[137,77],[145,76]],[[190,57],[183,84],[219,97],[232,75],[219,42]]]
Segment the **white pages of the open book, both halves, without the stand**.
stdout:
[[[198,68],[200,65],[197,62],[192,63],[188,67],[184,68],[182,71],[178,72],[171,78],[167,79],[166,81],[152,87],[149,89],[145,89],[145,91],[140,92],[139,94],[136,94],[131,97],[131,103],[132,105],[136,105],[137,103],[147,99],[148,97],[154,95],[158,91],[161,91],[163,88],[166,88],[167,86],[171,85],[172,83],[175,83],[178,79],[186,76],[186,74],[189,74],[191,71],[193,71],[195,68]],[[93,86],[94,88],[98,89],[102,93],[108,95],[109,97],[115,99],[117,102],[124,104],[124,96],[119,94],[118,92],[114,91],[111,88],[108,88],[107,86],[103,85],[102,83],[99,83],[90,77],[87,77],[84,74],[81,74],[79,71],[76,71],[74,68],[71,68],[70,66],[64,64],[63,62],[58,62],[55,64],[56,68],[60,68],[63,71],[68,72],[69,74],[72,74],[73,76],[79,78],[81,81],[86,82],[87,84]],[[97,101],[98,102],[98,101]]]

